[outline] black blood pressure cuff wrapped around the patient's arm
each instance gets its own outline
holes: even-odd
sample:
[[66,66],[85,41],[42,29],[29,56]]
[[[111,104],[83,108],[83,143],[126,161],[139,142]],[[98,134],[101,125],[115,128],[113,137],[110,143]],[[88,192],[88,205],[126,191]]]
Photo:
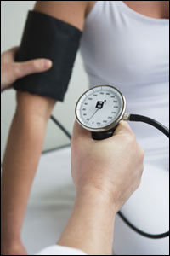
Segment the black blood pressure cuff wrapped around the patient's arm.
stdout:
[[63,102],[71,78],[82,32],[62,20],[29,11],[15,61],[48,58],[53,67],[34,73],[14,83],[15,90],[48,96]]

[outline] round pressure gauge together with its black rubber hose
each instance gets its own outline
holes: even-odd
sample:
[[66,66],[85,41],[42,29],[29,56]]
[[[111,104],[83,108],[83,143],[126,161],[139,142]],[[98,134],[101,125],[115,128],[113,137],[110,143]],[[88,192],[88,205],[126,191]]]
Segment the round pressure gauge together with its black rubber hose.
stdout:
[[[139,114],[128,114],[126,100],[120,90],[111,85],[98,85],[85,91],[78,99],[76,105],[77,122],[88,131],[92,131],[95,140],[111,137],[120,120],[144,122],[156,127],[167,137],[169,130],[154,119]],[[148,234],[131,224],[122,212],[118,212],[123,221],[134,231],[149,238],[162,238],[169,236],[169,231],[162,234]]]

